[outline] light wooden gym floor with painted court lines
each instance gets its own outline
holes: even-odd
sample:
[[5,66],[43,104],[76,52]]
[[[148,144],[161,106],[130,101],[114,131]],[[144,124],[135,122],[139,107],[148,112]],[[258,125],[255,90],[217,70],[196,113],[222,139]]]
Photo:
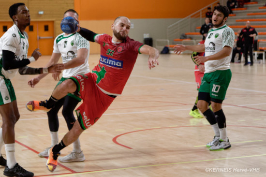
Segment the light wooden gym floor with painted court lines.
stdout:
[[[48,59],[43,56],[30,66],[44,66]],[[90,69],[98,59],[90,56]],[[232,148],[209,151],[205,145],[214,136],[212,128],[206,118],[189,116],[197,96],[190,55],[161,55],[152,70],[147,60],[139,55],[122,95],[80,136],[86,161],[59,162],[53,173],[46,169],[46,159],[37,156],[51,144],[46,114],[29,112],[25,104],[48,99],[57,82],[50,74],[30,88],[27,82],[34,76],[17,74],[12,79],[21,115],[15,126],[17,162],[36,177],[266,176],[265,64],[231,64],[223,111]],[[59,124],[61,140],[67,132],[61,113]],[[61,156],[71,150],[72,145],[64,148]]]

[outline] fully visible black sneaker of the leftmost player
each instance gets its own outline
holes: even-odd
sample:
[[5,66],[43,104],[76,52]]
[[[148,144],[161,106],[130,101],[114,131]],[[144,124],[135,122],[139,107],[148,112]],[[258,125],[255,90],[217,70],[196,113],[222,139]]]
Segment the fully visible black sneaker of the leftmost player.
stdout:
[[5,166],[4,175],[8,177],[33,177],[34,174],[22,168],[18,163],[13,168]]

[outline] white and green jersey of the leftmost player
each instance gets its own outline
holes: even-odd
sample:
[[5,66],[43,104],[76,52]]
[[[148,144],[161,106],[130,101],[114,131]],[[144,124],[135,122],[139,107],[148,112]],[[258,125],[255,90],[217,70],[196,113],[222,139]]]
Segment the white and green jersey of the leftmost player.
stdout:
[[7,79],[12,79],[17,73],[18,69],[4,70],[2,50],[9,50],[15,53],[16,60],[27,59],[29,48],[28,38],[20,32],[16,25],[9,28],[0,38],[0,75]]

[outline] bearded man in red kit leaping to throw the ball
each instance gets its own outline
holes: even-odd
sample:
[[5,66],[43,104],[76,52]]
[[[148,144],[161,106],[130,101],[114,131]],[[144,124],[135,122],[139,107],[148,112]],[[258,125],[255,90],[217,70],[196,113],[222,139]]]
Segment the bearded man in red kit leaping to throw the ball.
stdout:
[[159,51],[128,37],[130,20],[119,16],[112,25],[113,35],[96,34],[89,29],[78,28],[78,32],[88,41],[101,45],[101,56],[92,73],[75,75],[62,82],[48,101],[30,101],[31,111],[49,110],[68,93],[80,95],[83,103],[75,110],[78,121],[66,133],[61,142],[49,150],[47,169],[53,172],[57,166],[59,151],[73,143],[79,135],[91,127],[105,112],[122,90],[133,70],[138,54],[147,54],[148,68],[159,64]]

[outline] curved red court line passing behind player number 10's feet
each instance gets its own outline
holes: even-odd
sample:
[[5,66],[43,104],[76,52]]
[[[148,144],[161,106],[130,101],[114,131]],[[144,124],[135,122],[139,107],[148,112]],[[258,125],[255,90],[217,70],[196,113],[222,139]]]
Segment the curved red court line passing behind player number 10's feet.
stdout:
[[[113,142],[119,146],[122,146],[124,148],[129,148],[129,149],[133,149],[130,148],[128,146],[122,145],[120,143],[118,143],[117,139],[118,137],[125,135],[125,134],[129,134],[129,133],[135,133],[135,132],[142,132],[142,131],[148,131],[148,130],[157,130],[157,129],[169,129],[169,128],[184,128],[184,127],[208,127],[210,125],[196,125],[196,126],[176,126],[176,127],[161,127],[161,128],[153,128],[153,129],[143,129],[143,130],[137,130],[137,131],[133,131],[133,132],[127,132],[127,133],[122,133],[122,134],[118,134],[117,136],[115,136],[113,138]],[[246,125],[227,125],[227,127],[250,127],[250,128],[264,128],[266,129],[266,127],[256,127],[256,126],[246,126]]]

